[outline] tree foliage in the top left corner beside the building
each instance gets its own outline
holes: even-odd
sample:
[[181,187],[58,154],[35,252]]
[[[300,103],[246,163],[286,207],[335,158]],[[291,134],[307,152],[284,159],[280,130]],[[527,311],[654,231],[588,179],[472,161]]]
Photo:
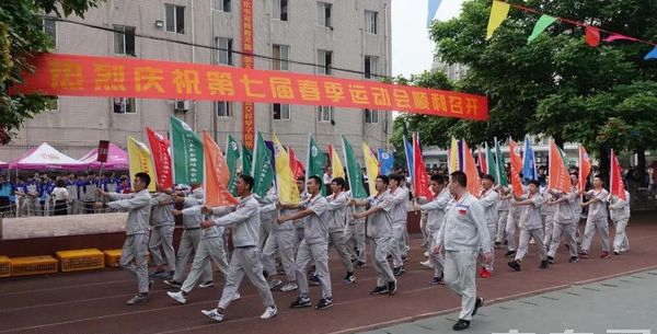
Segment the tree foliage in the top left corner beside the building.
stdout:
[[28,118],[46,110],[53,97],[42,94],[10,95],[23,81],[24,71],[34,71],[30,57],[47,53],[51,38],[43,30],[44,13],[58,18],[83,18],[103,0],[4,0],[0,1],[0,143],[8,143]]

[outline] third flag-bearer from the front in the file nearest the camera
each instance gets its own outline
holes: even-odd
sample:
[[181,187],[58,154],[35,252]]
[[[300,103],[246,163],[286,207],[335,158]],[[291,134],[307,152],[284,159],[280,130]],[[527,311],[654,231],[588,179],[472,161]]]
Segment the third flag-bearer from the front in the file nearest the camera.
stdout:
[[389,178],[385,175],[377,176],[374,187],[377,194],[371,194],[365,200],[351,199],[356,206],[369,205],[369,209],[365,212],[354,214],[354,219],[368,218],[367,234],[372,239],[371,256],[374,270],[377,270],[377,286],[370,295],[389,295],[396,292],[396,278],[388,263],[388,254],[392,245],[392,208],[393,198],[388,192]]

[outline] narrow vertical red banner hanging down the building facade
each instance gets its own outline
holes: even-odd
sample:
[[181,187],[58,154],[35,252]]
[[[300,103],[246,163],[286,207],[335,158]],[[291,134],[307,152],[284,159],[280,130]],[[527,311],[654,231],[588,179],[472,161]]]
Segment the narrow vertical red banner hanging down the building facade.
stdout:
[[[242,0],[242,67],[253,69],[253,0]],[[255,142],[255,104],[242,104],[242,136],[244,145],[253,149]]]

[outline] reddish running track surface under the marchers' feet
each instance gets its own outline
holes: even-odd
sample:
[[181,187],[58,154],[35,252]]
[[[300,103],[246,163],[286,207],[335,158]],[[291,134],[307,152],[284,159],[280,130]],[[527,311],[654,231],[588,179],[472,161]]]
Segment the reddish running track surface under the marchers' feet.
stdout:
[[[497,250],[496,272],[489,279],[477,279],[479,293],[489,303],[657,267],[657,221],[654,214],[635,215],[627,231],[632,249],[626,254],[610,260],[591,256],[590,260],[568,264],[566,250],[562,246],[556,264],[546,270],[538,268],[539,260],[532,247],[520,273],[506,265],[508,258],[503,257],[506,250]],[[330,264],[333,308],[324,311],[292,310],[288,304],[296,299],[297,292],[277,291],[274,299],[279,315],[268,321],[258,319],[264,308],[246,279],[240,289],[242,299],[230,306],[223,323],[214,323],[205,318],[200,310],[215,308],[220,297],[220,275],[216,275],[219,284],[207,289],[196,288],[184,306],[170,299],[165,295],[168,289],[158,280],[149,301],[138,307],[125,306],[136,290],[136,283],[131,275],[117,269],[4,278],[0,279],[0,334],[347,333],[459,308],[460,300],[449,288],[428,285],[431,270],[423,269],[418,264],[424,260],[424,251],[418,244],[419,240],[414,239],[406,273],[399,279],[395,296],[369,296],[376,283],[371,265],[357,269],[356,284],[342,284],[345,273],[333,254]],[[591,251],[592,255],[600,253],[597,238]],[[319,287],[311,288],[314,302],[320,295]]]

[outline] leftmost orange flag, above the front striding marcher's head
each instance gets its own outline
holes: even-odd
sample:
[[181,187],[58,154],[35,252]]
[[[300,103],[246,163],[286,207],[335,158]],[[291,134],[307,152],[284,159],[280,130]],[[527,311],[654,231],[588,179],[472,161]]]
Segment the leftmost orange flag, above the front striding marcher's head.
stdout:
[[239,204],[240,201],[226,187],[230,178],[230,171],[221,148],[206,131],[203,131],[203,153],[205,205],[218,207]]

